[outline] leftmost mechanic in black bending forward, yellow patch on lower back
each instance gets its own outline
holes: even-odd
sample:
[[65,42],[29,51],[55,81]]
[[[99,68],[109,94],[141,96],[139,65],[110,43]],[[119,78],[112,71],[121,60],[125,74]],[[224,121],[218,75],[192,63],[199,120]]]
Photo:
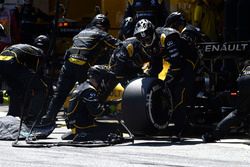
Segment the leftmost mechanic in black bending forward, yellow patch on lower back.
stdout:
[[34,46],[15,44],[0,54],[0,75],[10,88],[7,115],[24,114],[26,123],[33,122],[47,99],[47,85],[42,80],[42,62],[48,50],[49,39],[38,36]]

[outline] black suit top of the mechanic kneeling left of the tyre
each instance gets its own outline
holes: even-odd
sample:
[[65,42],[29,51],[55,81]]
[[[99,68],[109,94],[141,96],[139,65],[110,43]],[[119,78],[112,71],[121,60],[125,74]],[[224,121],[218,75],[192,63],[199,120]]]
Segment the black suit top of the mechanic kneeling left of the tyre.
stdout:
[[102,115],[104,106],[101,104],[98,92],[86,81],[74,90],[70,99],[67,115],[67,127],[70,129],[84,130],[95,126],[94,118]]

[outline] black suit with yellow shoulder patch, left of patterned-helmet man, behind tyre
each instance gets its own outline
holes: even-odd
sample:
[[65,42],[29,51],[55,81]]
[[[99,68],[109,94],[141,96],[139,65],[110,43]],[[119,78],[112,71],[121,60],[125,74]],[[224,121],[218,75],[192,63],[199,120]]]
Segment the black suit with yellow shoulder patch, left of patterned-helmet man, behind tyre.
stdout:
[[[135,37],[121,42],[110,58],[110,71],[116,75],[116,81],[109,85],[111,87],[109,90],[113,90],[119,82],[125,86],[129,81],[138,77],[157,77],[162,69],[161,61],[156,64],[157,61],[153,61],[153,59],[154,57],[145,52],[143,46]],[[149,63],[149,69],[144,72],[143,66],[145,63]]]

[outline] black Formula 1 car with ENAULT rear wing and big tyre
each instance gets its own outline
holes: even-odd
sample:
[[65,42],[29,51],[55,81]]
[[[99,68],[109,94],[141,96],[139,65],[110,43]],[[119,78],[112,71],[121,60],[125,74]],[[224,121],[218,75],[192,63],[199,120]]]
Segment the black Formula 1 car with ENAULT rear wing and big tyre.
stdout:
[[[235,109],[236,79],[242,63],[250,55],[249,45],[249,41],[198,44],[201,61],[196,77],[196,98],[192,105],[186,106],[187,131],[203,133],[212,129]],[[172,112],[171,90],[164,88],[161,79],[138,78],[124,88],[121,115],[135,135],[166,134],[172,123]],[[238,131],[248,132],[244,128],[243,122]]]

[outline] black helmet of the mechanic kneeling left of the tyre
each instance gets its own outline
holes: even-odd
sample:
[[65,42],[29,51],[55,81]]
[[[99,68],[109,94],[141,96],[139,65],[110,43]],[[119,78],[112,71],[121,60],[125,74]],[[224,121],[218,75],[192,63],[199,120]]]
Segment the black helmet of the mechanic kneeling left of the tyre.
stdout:
[[88,69],[88,79],[95,80],[97,90],[105,89],[111,79],[114,79],[114,74],[105,65],[94,65]]

